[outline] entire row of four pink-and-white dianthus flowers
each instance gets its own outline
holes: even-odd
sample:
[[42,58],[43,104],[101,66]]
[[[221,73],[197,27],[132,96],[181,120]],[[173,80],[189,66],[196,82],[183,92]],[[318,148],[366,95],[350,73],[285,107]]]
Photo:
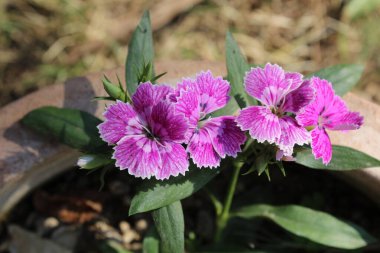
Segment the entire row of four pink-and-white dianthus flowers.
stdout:
[[363,124],[332,85],[317,77],[304,80],[299,73],[267,64],[248,71],[244,85],[259,105],[242,109],[237,117],[212,117],[227,105],[230,85],[210,71],[184,78],[175,89],[141,83],[132,103],[117,101],[107,108],[100,135],[114,145],[113,159],[120,169],[136,177],[167,179],[185,174],[189,158],[199,168],[214,168],[226,156],[236,157],[246,130],[257,142],[274,144],[277,160],[291,160],[295,145],[311,143],[315,158],[328,164],[332,148],[326,129]]

